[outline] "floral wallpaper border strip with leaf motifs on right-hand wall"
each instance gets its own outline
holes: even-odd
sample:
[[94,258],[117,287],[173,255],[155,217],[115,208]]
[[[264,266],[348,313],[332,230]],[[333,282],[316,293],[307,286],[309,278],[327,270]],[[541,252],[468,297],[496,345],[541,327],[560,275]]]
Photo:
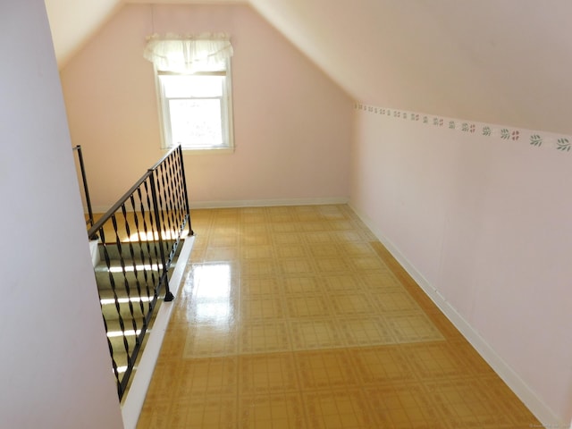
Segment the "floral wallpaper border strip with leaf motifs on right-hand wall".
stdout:
[[363,103],[356,103],[355,108],[370,114],[391,116],[401,121],[422,122],[433,127],[442,127],[453,131],[467,132],[469,134],[479,134],[484,136],[484,138],[501,139],[505,141],[524,141],[532,147],[551,147],[559,152],[570,152],[572,150],[572,137],[570,136],[555,136],[547,132],[451,119],[438,115],[416,114],[414,112],[376,107]]

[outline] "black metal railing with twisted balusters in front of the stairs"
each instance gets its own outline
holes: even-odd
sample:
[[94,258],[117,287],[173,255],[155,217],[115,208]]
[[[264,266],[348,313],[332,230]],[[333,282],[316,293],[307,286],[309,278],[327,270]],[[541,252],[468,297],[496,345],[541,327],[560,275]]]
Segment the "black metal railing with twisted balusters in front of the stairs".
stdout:
[[172,262],[193,235],[181,147],[173,148],[88,231],[99,239],[97,289],[120,400],[143,340],[169,288]]

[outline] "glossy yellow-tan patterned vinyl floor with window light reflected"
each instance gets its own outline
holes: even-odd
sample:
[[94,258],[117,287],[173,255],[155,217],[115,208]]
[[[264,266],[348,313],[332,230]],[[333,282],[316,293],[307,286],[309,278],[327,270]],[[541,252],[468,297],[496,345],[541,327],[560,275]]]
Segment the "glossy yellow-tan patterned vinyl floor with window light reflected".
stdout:
[[140,429],[539,425],[348,206],[191,215]]

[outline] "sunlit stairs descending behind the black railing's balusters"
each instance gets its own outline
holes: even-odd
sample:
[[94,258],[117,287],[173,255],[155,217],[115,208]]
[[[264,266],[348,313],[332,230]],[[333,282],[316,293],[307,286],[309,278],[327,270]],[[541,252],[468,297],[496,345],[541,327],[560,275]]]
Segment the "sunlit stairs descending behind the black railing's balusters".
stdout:
[[[174,242],[164,240],[163,243],[165,257],[168,257]],[[156,285],[163,272],[162,265],[157,264],[160,260],[159,244],[158,241],[142,241],[124,242],[118,246],[116,243],[104,245],[92,241],[91,247],[107,339],[122,383],[120,396],[125,397],[125,392],[129,389],[128,382],[133,378],[157,311],[164,301],[164,285],[157,295],[155,294]],[[169,279],[181,247],[182,242],[177,247],[169,267]],[[149,315],[154,301],[155,307]],[[141,345],[138,347],[138,337],[142,330],[145,330],[145,335],[139,338]],[[137,358],[129,374],[129,356],[132,356],[134,351]],[[123,380],[125,375],[128,380]]]

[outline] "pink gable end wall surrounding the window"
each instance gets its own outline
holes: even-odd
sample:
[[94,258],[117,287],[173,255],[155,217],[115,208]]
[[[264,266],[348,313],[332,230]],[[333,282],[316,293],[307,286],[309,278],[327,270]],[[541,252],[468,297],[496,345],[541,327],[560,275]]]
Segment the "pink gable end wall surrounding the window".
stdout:
[[236,151],[185,156],[191,205],[348,198],[352,101],[256,12],[128,4],[61,71],[94,206],[111,206],[162,156],[146,36],[213,30],[234,46]]

